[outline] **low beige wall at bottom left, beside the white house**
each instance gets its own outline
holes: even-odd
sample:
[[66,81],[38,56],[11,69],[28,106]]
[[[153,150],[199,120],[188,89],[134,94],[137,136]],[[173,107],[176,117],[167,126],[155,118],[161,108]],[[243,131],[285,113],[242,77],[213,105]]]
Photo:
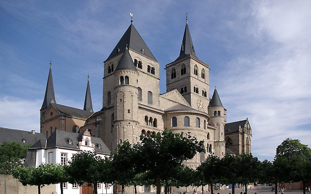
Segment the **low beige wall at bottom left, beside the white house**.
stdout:
[[[52,194],[55,185],[46,185],[41,188],[41,194]],[[12,174],[0,174],[0,194],[36,194],[37,186],[23,186]]]

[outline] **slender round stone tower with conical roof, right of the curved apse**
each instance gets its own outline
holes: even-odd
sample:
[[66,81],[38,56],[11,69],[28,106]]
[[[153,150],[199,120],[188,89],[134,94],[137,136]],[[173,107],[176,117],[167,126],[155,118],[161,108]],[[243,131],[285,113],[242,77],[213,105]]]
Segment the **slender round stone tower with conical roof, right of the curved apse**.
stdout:
[[220,157],[225,154],[226,111],[215,87],[213,97],[208,105],[208,115],[210,116],[209,123],[216,128],[214,132],[214,153]]

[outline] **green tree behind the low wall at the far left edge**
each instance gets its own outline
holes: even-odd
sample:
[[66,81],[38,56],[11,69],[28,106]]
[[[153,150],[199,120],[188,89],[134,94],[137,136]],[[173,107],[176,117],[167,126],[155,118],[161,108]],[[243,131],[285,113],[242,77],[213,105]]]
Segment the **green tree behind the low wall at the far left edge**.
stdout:
[[17,142],[3,142],[0,145],[0,174],[11,174],[17,166],[22,166],[28,146]]

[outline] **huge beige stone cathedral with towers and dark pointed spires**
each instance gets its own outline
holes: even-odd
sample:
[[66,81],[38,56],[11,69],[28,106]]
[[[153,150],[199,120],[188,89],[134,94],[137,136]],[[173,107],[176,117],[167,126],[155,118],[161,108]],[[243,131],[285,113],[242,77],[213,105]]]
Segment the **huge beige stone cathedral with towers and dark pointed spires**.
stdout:
[[[50,63],[51,64],[51,63]],[[160,63],[148,48],[132,21],[104,60],[103,106],[94,112],[89,78],[84,109],[56,102],[52,69],[40,109],[40,132],[46,138],[56,129],[100,137],[110,151],[141,134],[191,132],[204,140],[206,153],[197,153],[185,165],[196,168],[208,153],[251,153],[252,129],[248,119],[226,123],[226,109],[215,87],[210,98],[210,66],[195,53],[186,22],[180,54],[165,65],[166,92],[160,94]]]

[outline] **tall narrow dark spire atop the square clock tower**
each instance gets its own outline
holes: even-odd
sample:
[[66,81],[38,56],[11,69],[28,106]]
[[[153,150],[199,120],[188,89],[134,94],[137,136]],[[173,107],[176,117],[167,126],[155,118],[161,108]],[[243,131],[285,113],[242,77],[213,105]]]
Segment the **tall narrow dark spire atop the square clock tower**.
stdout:
[[181,43],[180,54],[176,60],[181,59],[190,54],[196,56],[188,27],[188,22],[186,21],[186,28],[185,32],[183,33],[183,42]]

